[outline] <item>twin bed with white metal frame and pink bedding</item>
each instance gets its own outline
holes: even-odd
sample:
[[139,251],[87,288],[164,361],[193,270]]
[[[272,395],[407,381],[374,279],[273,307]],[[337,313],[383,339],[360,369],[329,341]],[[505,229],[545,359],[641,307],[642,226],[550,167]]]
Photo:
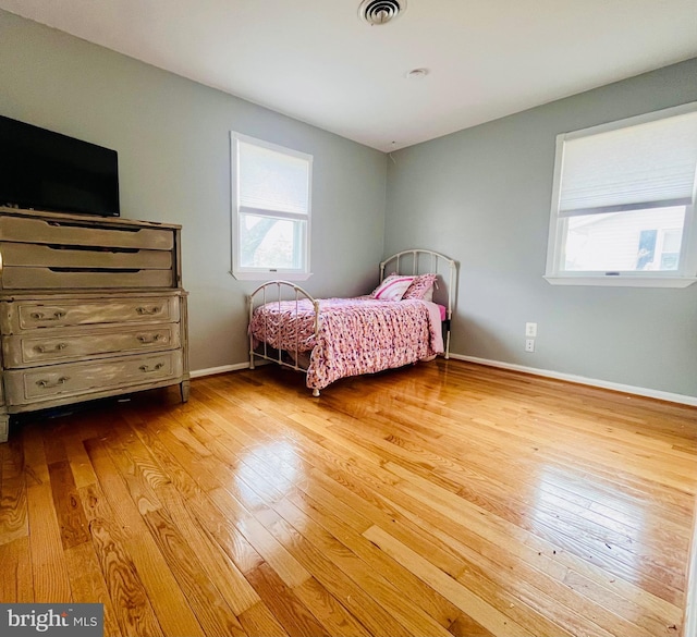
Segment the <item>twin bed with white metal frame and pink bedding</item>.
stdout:
[[380,264],[380,284],[354,298],[313,298],[288,281],[248,297],[249,367],[268,360],[304,371],[318,396],[335,380],[450,354],[456,265],[426,249]]

